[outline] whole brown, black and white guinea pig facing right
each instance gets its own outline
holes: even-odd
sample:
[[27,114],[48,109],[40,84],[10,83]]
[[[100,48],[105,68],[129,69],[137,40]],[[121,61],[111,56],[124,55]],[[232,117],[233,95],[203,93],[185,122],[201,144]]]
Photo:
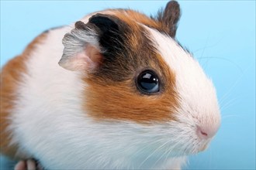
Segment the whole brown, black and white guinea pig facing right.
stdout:
[[155,17],[107,9],[36,37],[1,71],[1,153],[47,169],[180,169],[220,127],[212,80]]

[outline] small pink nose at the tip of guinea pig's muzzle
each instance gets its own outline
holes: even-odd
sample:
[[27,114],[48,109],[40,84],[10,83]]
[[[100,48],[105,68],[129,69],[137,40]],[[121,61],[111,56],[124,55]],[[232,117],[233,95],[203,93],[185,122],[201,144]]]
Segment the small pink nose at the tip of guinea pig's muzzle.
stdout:
[[218,128],[213,127],[210,124],[197,126],[197,129],[196,129],[197,135],[199,136],[199,138],[202,138],[202,139],[213,138],[213,136],[216,134],[217,131],[218,131]]

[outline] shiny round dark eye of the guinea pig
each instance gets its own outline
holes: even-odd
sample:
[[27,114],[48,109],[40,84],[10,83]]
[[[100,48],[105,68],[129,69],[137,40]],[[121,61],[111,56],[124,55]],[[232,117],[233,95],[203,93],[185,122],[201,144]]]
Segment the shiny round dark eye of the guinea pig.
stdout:
[[159,91],[159,79],[157,74],[151,70],[143,71],[137,78],[137,87],[143,93],[157,93]]

